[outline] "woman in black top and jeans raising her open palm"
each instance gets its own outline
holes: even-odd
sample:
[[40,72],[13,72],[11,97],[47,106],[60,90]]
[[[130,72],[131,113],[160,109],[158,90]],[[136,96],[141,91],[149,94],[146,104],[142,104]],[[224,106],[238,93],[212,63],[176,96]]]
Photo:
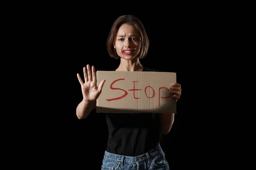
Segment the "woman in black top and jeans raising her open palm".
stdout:
[[[145,68],[139,59],[148,52],[148,36],[143,23],[134,15],[123,15],[115,20],[107,40],[111,57],[120,59],[115,71],[157,71]],[[96,99],[105,80],[97,86],[95,68],[84,67],[81,84],[83,100],[76,108],[79,119],[85,119],[96,108]],[[170,93],[178,100],[180,84],[170,85]],[[108,113],[108,144],[102,161],[102,170],[169,170],[165,153],[160,146],[160,133],[171,130],[174,113]]]

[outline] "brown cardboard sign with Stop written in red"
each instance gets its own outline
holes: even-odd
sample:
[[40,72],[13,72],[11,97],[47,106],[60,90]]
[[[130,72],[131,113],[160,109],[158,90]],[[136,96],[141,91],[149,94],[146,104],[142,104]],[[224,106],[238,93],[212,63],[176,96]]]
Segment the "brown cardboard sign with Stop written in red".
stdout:
[[97,99],[97,113],[176,113],[176,99],[168,87],[176,73],[97,71],[97,85],[105,83]]

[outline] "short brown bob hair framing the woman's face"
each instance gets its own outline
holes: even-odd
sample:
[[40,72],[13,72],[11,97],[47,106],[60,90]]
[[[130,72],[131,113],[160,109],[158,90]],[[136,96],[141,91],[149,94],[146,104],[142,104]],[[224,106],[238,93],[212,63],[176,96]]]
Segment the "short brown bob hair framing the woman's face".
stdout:
[[148,35],[145,31],[143,23],[134,15],[122,15],[114,21],[107,39],[108,54],[115,59],[120,58],[116,53],[116,49],[114,48],[113,43],[116,41],[117,31],[122,26],[122,24],[135,26],[137,31],[139,31],[141,36],[141,46],[140,46],[140,54],[138,55],[138,58],[143,59],[148,53],[148,48],[149,48]]

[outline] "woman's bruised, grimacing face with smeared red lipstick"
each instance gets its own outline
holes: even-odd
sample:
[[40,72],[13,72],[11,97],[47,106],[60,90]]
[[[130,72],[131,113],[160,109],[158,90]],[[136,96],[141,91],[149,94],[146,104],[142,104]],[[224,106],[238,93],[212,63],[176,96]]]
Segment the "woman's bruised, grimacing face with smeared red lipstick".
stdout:
[[117,31],[113,45],[119,57],[126,60],[134,59],[140,53],[140,33],[134,26],[123,24]]

